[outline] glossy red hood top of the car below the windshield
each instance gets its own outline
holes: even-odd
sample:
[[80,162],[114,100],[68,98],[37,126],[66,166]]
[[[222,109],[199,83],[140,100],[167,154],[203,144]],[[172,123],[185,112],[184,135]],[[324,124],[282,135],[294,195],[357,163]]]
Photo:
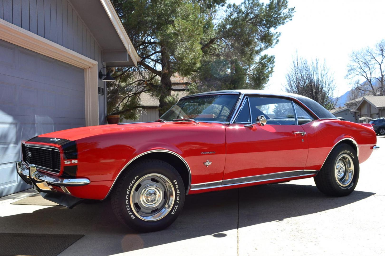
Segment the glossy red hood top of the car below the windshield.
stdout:
[[198,125],[192,122],[148,122],[148,123],[132,123],[132,124],[108,124],[103,126],[86,126],[68,130],[60,130],[41,134],[38,137],[60,138],[67,140],[79,140],[99,134],[129,131],[132,129],[162,129],[167,127],[186,127],[186,126],[221,126],[218,123],[200,122]]

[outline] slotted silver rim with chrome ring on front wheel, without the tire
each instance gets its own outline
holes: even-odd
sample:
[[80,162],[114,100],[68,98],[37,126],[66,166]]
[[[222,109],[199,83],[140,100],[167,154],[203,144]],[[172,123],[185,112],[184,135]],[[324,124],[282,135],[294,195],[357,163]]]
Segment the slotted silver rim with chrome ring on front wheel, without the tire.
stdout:
[[159,173],[150,173],[132,187],[130,205],[134,214],[145,221],[157,221],[169,213],[175,191],[171,181]]

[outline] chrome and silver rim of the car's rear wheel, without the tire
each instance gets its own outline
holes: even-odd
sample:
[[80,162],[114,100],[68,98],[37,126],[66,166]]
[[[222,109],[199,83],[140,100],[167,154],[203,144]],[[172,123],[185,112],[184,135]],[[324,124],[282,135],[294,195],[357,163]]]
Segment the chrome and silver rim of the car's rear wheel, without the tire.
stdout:
[[338,157],[334,165],[334,175],[337,183],[342,187],[346,187],[352,182],[354,164],[350,155],[342,154]]

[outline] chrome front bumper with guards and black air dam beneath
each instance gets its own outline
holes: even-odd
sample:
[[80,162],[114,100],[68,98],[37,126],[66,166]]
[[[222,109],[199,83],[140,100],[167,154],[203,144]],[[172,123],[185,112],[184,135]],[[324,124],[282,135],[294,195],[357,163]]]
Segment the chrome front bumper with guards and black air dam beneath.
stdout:
[[[35,165],[31,164],[27,167],[21,160],[16,161],[16,168],[20,178],[27,184],[32,185],[33,189],[39,192],[43,198],[68,208],[72,208],[82,199],[70,196],[71,193],[67,187],[84,186],[90,183],[87,178],[60,178],[41,173],[36,169]],[[52,185],[60,187],[64,193],[57,193]]]

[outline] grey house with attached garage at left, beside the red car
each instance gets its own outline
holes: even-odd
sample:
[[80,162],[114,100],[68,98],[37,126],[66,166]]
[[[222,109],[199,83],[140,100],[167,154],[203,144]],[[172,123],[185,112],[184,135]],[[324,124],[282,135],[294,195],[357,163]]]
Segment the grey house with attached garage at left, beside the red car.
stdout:
[[0,197],[30,187],[22,140],[105,124],[98,72],[137,61],[110,0],[0,0]]

